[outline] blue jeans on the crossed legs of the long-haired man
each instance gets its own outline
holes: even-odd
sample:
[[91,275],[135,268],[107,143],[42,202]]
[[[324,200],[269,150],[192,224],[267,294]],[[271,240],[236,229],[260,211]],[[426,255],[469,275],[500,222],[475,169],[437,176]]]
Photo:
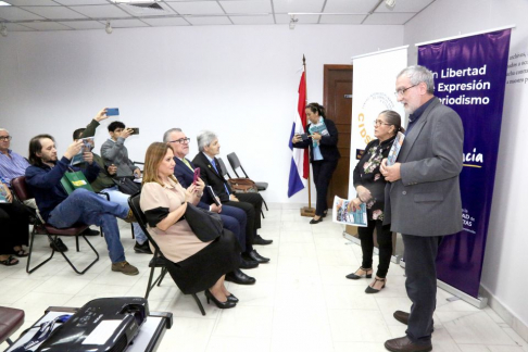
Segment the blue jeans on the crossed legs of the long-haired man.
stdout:
[[48,223],[56,228],[70,227],[76,223],[101,226],[110,260],[112,263],[120,263],[125,261],[125,250],[121,243],[115,217],[125,218],[127,214],[128,208],[78,188],[51,211]]

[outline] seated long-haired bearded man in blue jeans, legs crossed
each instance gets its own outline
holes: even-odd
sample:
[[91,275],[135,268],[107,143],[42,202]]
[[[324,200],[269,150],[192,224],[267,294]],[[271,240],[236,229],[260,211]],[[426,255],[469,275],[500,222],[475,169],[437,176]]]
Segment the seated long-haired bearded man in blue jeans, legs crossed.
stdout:
[[[56,228],[66,228],[76,223],[101,226],[112,261],[112,272],[125,275],[138,275],[138,268],[125,260],[125,250],[120,240],[117,219],[130,223],[133,213],[117,203],[79,188],[67,194],[61,179],[68,169],[71,160],[80,151],[83,141],[75,141],[67,148],[61,160],[56,158],[55,141],[50,135],[38,135],[29,141],[29,163],[26,168],[26,183],[35,194],[40,215]],[[88,181],[93,181],[99,174],[99,166],[93,163],[91,152],[84,153],[88,167],[83,172]]]

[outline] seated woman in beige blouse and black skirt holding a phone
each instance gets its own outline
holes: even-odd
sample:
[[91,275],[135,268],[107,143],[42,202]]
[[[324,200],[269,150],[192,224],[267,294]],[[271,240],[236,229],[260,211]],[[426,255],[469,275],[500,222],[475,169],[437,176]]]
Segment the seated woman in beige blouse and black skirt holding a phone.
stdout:
[[[174,154],[166,143],[150,144],[144,156],[140,206],[149,234],[163,255],[172,261],[169,274],[184,293],[205,290],[208,303],[234,307],[238,299],[224,286],[226,273],[238,267],[238,242],[232,232],[202,242],[183,218],[187,203],[197,204],[201,194],[196,186],[184,189],[174,177]],[[153,250],[153,249],[152,249]]]

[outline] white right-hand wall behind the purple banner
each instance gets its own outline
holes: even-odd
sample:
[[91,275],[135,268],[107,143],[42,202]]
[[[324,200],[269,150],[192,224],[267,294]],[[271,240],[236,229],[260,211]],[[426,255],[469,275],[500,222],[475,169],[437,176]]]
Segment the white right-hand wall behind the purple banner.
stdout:
[[[405,25],[404,41],[412,46],[461,33],[516,24],[517,28],[512,33],[510,55],[524,52],[526,61],[527,13],[526,0],[437,0]],[[410,63],[416,63],[416,53],[415,48],[410,50]],[[528,65],[524,68],[528,68]],[[528,78],[528,74],[521,76]],[[528,325],[528,276],[525,273],[528,267],[528,236],[524,223],[528,209],[528,189],[524,180],[528,175],[526,97],[528,83],[506,85],[492,215],[481,280],[482,286],[494,296],[494,299],[525,326]]]

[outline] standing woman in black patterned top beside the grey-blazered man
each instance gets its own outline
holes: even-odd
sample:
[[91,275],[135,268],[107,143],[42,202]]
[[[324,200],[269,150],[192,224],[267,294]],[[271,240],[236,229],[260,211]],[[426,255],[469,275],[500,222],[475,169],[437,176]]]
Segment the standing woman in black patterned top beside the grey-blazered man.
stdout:
[[357,198],[352,200],[353,208],[362,203],[367,209],[367,226],[359,227],[363,263],[355,273],[347,275],[349,279],[373,277],[373,251],[374,229],[379,249],[379,264],[376,277],[366,288],[366,293],[379,292],[387,282],[390,256],[392,255],[392,232],[390,224],[384,225],[385,185],[387,181],[381,176],[379,166],[381,161],[389,155],[389,151],[399,131],[403,131],[400,114],[392,111],[382,111],[374,122],[374,136],[377,138],[365,147],[365,152],[354,168],[354,187]]

